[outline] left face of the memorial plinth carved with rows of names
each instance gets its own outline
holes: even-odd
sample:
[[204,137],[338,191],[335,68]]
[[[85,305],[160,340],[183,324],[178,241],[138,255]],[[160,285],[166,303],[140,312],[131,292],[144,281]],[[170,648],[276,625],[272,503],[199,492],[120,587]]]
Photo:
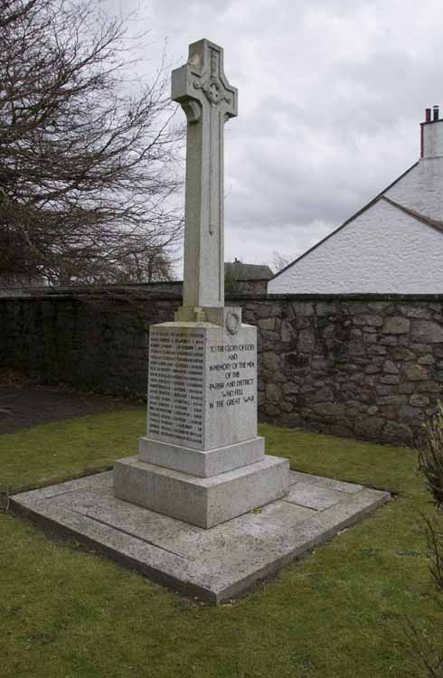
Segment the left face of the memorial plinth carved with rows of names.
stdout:
[[151,328],[148,436],[203,446],[204,339],[203,332]]

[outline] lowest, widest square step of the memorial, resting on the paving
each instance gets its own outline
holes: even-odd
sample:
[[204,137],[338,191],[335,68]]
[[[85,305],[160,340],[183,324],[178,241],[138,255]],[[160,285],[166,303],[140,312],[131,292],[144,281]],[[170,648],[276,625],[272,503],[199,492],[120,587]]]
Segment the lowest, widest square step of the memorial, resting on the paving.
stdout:
[[128,457],[114,467],[114,493],[131,504],[209,528],[285,496],[288,471],[287,459],[265,456],[256,464],[201,478]]

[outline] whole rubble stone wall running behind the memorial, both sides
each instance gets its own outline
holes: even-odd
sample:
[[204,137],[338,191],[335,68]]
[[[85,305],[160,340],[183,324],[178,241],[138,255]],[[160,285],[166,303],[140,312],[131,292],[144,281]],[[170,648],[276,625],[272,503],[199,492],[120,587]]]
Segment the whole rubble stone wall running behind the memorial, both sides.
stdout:
[[[0,299],[0,365],[146,392],[149,325],[180,296],[140,288]],[[443,296],[236,295],[259,329],[259,418],[413,444],[443,390]]]

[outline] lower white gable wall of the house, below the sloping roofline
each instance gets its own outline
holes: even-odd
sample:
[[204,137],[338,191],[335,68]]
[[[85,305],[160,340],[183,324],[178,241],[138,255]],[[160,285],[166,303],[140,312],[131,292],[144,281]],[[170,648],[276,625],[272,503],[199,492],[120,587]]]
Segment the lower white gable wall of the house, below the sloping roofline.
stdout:
[[[411,198],[407,202],[390,193],[392,200],[412,207]],[[419,192],[415,199],[419,200]],[[274,294],[441,294],[443,234],[380,200],[270,280],[268,290]]]

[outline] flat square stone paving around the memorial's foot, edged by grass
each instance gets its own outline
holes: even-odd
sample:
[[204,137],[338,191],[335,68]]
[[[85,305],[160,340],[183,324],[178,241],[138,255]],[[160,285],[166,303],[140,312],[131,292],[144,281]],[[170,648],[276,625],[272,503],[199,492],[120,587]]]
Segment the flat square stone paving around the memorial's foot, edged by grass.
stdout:
[[283,499],[209,529],[118,499],[112,472],[15,494],[12,506],[150,579],[217,604],[329,540],[391,496],[298,472],[291,472],[290,483]]

